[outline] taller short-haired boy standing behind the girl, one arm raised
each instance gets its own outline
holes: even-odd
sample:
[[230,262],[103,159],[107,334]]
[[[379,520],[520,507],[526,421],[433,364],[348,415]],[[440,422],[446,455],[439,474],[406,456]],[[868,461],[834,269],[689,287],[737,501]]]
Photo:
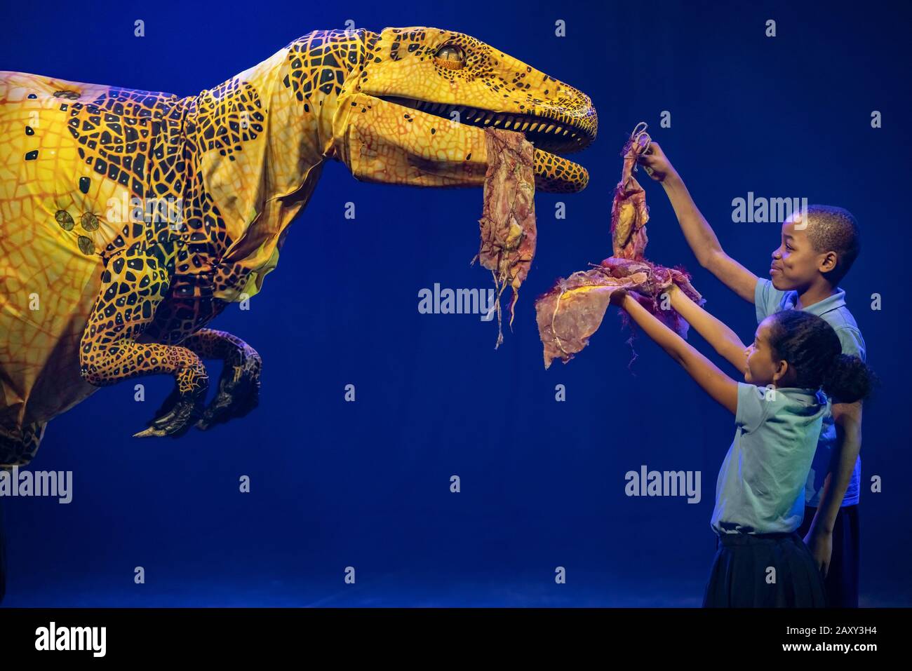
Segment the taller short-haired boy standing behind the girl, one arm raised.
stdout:
[[[726,254],[657,142],[640,163],[659,181],[700,265],[756,307],[757,321],[780,310],[806,310],[833,326],[843,353],[865,361],[865,341],[838,287],[860,251],[855,217],[842,208],[812,205],[782,223],[769,280]],[[799,533],[824,573],[827,605],[858,607],[858,493],[861,488],[861,403],[834,399],[834,422],[821,431],[804,490]]]

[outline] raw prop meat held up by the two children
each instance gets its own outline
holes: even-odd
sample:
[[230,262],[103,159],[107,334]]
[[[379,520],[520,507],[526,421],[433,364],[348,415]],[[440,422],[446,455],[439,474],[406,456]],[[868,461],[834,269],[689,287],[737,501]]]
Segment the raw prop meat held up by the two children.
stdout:
[[698,305],[702,297],[690,284],[690,276],[676,268],[665,268],[643,258],[648,238],[649,219],[646,193],[633,177],[637,158],[649,146],[646,124],[637,125],[624,145],[624,169],[615,189],[611,207],[611,236],[614,256],[587,271],[578,271],[558,280],[547,294],[535,301],[538,334],[544,345],[544,367],[555,358],[564,363],[583,350],[589,337],[605,317],[611,294],[619,288],[633,295],[680,336],[686,337],[688,324],[662,301],[662,294],[677,284]]

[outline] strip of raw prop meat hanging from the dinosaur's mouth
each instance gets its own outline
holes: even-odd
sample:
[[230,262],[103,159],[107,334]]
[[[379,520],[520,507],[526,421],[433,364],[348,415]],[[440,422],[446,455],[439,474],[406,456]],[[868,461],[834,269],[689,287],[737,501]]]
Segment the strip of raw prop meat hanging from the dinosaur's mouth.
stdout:
[[482,244],[472,259],[491,271],[497,290],[497,343],[503,342],[501,294],[513,287],[510,326],[519,287],[535,255],[534,146],[522,133],[485,129],[488,170],[484,175],[484,209],[479,224]]

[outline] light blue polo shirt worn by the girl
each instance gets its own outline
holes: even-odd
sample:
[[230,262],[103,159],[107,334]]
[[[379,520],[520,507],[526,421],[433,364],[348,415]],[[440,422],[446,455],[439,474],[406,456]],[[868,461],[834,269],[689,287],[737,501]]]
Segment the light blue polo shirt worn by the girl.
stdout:
[[829,413],[820,391],[738,383],[735,439],[716,480],[713,531],[788,533],[801,526],[804,484]]

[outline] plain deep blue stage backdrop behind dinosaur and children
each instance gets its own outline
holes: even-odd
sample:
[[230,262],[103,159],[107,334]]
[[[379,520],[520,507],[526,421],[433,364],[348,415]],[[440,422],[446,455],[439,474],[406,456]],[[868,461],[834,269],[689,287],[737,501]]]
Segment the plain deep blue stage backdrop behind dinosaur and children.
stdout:
[[[536,196],[537,253],[496,351],[496,322],[418,309],[435,284],[492,285],[470,265],[481,189],[366,184],[328,164],[263,292],[214,322],[263,356],[260,407],[132,439],[171,390],[154,377],[140,380],[145,402],[123,383],[52,421],[31,468],[71,470],[72,501],[3,501],[5,605],[700,605],[731,416],[645,336],[628,344],[615,308],[549,370],[534,318],[555,278],[610,255],[619,151],[641,120],[756,274],[779,224],[733,222],[733,199],[807,197],[861,223],[842,285],[882,379],[865,406],[861,603],[912,603],[907,20],[876,3],[794,5],[7,4],[0,67],[181,96],[347,20],[449,28],[582,89],[599,129],[573,157],[586,191]],[[753,306],[699,267],[661,187],[637,176],[648,258],[686,266],[706,307],[750,337]],[[699,471],[699,501],[627,496],[625,474],[643,467]]]

